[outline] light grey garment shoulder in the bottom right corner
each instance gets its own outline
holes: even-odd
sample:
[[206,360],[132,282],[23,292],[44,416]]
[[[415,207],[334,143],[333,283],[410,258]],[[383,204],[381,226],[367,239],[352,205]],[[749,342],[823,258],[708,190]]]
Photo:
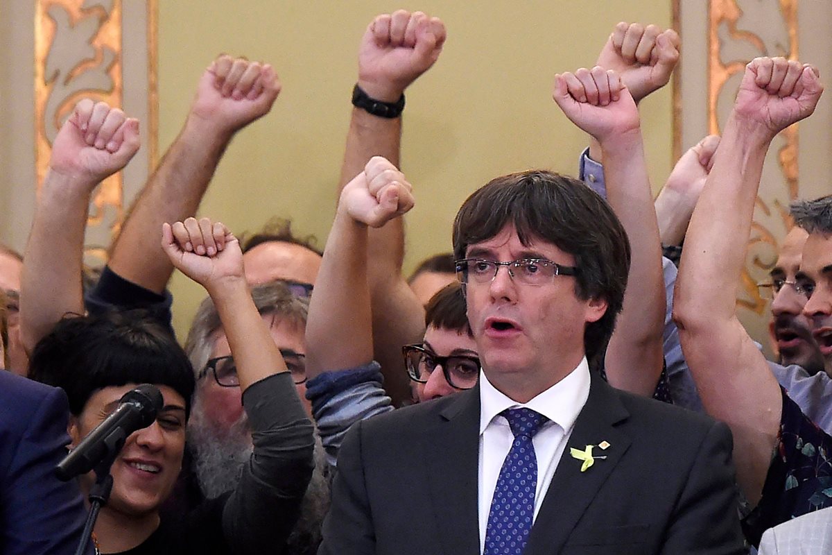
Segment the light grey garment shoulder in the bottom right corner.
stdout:
[[828,555],[832,553],[832,507],[769,528],[759,555]]

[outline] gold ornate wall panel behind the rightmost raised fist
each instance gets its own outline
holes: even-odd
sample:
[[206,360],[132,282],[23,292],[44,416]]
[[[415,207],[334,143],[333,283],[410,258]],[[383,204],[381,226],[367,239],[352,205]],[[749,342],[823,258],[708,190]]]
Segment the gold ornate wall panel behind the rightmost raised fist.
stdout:
[[[832,42],[829,33],[821,31],[825,29],[821,22],[832,17],[832,2],[674,0],[673,10],[682,37],[681,65],[674,82],[676,157],[702,136],[721,131],[751,59],[799,59],[818,65],[822,80],[830,76]],[[827,107],[819,106],[800,127],[781,132],[765,161],[737,298],[740,320],[762,342],[767,337],[770,307],[760,299],[755,284],[766,279],[792,225],[790,202],[829,194],[829,114]],[[801,143],[800,136],[811,138]]]

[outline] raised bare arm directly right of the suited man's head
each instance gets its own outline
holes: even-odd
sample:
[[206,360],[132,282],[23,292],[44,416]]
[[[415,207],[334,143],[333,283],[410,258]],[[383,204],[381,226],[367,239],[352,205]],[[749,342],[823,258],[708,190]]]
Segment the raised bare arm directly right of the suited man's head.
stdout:
[[638,109],[617,73],[602,67],[557,75],[554,99],[601,147],[607,200],[631,244],[624,308],[607,347],[607,378],[617,388],[651,396],[662,368],[666,305]]

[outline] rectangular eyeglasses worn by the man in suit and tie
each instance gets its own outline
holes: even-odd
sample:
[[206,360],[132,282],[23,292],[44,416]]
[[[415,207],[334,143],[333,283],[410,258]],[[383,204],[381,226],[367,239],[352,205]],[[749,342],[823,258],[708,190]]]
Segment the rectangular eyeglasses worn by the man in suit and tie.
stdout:
[[484,258],[463,258],[456,261],[457,279],[463,283],[485,284],[497,277],[500,266],[508,275],[523,285],[546,285],[556,275],[575,275],[575,266],[564,266],[545,258],[520,258],[511,262],[498,262]]

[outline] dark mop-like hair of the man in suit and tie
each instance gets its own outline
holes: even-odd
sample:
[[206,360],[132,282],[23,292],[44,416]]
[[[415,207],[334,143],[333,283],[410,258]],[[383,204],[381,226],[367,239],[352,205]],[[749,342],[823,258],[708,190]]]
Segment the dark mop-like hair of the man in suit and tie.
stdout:
[[[607,301],[607,312],[587,324],[584,349],[591,363],[602,354],[624,304],[630,241],[612,208],[581,181],[532,170],[498,177],[474,191],[453,221],[453,255],[513,225],[523,245],[544,240],[575,257],[575,294]],[[596,361],[597,362],[597,361]]]

